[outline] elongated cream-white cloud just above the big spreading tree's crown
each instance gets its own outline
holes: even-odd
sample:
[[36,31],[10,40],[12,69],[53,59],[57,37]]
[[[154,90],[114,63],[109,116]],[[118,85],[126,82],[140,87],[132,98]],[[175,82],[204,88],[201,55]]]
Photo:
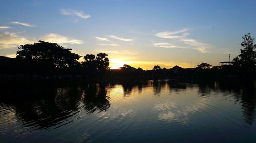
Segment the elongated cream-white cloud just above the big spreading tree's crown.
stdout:
[[63,44],[63,43],[68,43],[68,44],[83,44],[82,40],[79,39],[69,39],[68,37],[62,36],[62,35],[57,35],[54,33],[47,34],[42,38],[42,40],[47,41],[47,42],[52,42],[52,43],[58,43],[58,44]]

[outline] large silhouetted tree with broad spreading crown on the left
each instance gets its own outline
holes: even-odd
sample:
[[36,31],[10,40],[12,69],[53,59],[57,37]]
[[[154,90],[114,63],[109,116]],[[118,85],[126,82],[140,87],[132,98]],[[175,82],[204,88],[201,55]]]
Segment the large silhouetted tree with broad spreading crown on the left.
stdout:
[[45,60],[52,62],[56,68],[66,68],[78,65],[78,54],[72,49],[64,48],[56,43],[38,41],[34,44],[25,44],[18,47],[16,58],[26,60]]

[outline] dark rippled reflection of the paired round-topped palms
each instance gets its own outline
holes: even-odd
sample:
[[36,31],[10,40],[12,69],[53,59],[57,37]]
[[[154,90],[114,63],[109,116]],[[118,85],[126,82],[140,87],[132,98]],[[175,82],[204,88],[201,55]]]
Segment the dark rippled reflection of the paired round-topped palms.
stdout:
[[110,107],[110,98],[106,94],[106,87],[103,84],[90,84],[86,87],[84,108],[88,113],[93,113],[96,110],[106,111]]

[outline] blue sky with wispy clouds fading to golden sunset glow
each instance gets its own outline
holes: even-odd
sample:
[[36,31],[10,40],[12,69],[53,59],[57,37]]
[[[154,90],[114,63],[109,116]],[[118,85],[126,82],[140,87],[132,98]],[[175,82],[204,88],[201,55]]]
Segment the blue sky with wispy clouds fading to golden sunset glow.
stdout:
[[[256,37],[256,1],[0,1],[0,55],[43,40],[81,56],[105,52],[110,67],[218,66]],[[80,58],[79,61],[83,61]]]

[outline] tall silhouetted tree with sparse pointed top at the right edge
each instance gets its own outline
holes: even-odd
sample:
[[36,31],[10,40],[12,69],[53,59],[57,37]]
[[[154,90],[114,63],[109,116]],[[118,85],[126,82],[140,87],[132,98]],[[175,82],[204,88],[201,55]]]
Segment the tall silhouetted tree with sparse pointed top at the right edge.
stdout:
[[250,33],[245,34],[242,38],[244,41],[241,43],[241,46],[244,49],[240,49],[241,54],[238,55],[239,62],[245,68],[254,68],[256,62],[256,44],[253,45],[254,38],[251,38]]

